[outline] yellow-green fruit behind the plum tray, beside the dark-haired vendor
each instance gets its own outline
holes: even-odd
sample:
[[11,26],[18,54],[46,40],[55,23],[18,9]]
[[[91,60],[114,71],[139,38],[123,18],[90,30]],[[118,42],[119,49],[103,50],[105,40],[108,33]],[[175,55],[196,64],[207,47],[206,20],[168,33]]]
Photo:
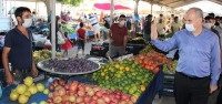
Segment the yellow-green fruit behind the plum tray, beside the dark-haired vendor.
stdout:
[[[39,63],[40,61],[50,59],[51,54],[52,54],[52,52],[50,50],[34,51],[33,52],[34,62]],[[61,54],[59,52],[57,52],[56,56],[61,58]]]

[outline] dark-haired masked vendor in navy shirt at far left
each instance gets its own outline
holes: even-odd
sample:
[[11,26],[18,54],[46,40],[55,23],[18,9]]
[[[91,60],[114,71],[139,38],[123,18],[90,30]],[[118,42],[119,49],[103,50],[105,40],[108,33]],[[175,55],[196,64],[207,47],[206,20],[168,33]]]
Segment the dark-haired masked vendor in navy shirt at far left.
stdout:
[[[26,76],[37,76],[38,71],[33,61],[32,33],[27,28],[31,25],[31,11],[20,7],[14,12],[18,25],[6,34],[2,52],[2,63],[7,83],[21,82]],[[11,62],[11,71],[9,69]]]

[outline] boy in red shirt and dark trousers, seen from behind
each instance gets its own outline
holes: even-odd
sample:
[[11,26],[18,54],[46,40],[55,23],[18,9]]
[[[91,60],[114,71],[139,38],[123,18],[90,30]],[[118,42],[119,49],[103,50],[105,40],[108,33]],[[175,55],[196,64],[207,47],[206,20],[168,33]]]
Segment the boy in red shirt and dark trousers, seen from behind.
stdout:
[[85,30],[83,29],[83,23],[80,22],[80,29],[77,31],[78,32],[78,50],[77,50],[77,58],[79,54],[80,49],[82,49],[82,55],[84,55],[84,43],[85,43]]

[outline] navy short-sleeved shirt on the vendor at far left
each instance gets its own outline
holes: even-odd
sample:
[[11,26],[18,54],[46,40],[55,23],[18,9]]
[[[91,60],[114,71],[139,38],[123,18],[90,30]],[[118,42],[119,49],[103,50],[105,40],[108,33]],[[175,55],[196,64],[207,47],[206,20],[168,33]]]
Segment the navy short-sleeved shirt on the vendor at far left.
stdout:
[[16,27],[6,34],[4,46],[11,48],[9,61],[16,69],[32,67],[32,33],[29,39]]

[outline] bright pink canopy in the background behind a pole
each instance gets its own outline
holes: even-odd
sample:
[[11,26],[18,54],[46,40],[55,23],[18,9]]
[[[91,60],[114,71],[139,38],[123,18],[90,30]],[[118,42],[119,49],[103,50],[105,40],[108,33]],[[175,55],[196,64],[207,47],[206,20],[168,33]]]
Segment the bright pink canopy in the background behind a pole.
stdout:
[[[94,8],[101,10],[110,10],[111,3],[94,3]],[[121,4],[114,4],[114,10],[130,10],[130,8]]]

